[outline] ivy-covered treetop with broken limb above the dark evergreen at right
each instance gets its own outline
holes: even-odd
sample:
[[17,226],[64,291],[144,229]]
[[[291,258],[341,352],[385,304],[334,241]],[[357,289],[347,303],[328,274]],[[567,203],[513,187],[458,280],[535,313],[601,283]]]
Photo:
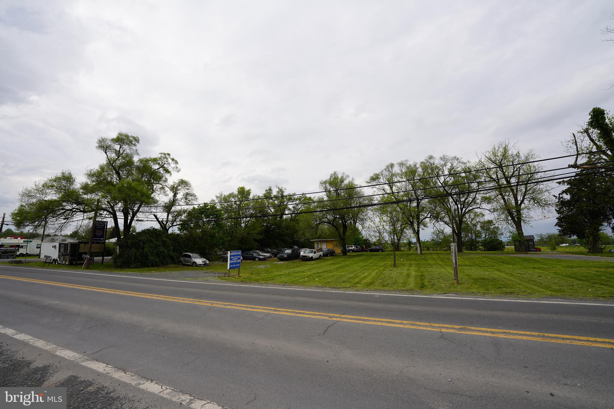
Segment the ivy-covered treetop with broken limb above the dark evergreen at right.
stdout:
[[[576,154],[575,161],[569,167],[614,170],[614,117],[599,107],[591,109],[588,117],[578,134],[572,133],[572,139],[565,142],[567,150]],[[597,153],[589,156],[588,163],[578,164],[578,157],[590,151]]]

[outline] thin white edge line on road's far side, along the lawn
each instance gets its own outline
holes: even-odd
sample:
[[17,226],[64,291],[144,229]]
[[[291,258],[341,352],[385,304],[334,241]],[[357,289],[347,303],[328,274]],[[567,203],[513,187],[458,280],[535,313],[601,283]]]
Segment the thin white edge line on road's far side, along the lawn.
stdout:
[[39,271],[60,271],[64,273],[77,273],[77,274],[91,274],[91,275],[105,275],[109,277],[122,277],[122,278],[138,278],[139,280],[156,280],[156,281],[171,281],[175,283],[193,283],[193,284],[208,284],[217,286],[234,286],[234,287],[252,287],[263,289],[289,289],[295,291],[319,291],[319,292],[341,292],[343,294],[367,294],[373,296],[394,296],[394,297],[416,297],[416,298],[440,298],[448,300],[473,300],[473,301],[503,301],[503,302],[534,302],[539,304],[570,304],[570,305],[600,305],[602,307],[614,307],[614,303],[607,302],[573,302],[573,301],[545,301],[545,300],[517,300],[517,299],[504,299],[504,298],[476,298],[476,297],[458,297],[458,296],[425,296],[421,294],[395,294],[394,292],[371,292],[371,291],[343,291],[336,289],[316,289],[316,288],[296,288],[296,287],[273,287],[273,286],[257,286],[249,284],[230,284],[230,283],[211,283],[211,281],[192,281],[192,280],[171,280],[170,278],[153,278],[153,277],[134,277],[133,275],[117,275],[107,273],[89,273],[85,271],[74,270],[45,270],[35,267],[16,267],[16,266],[1,266],[9,267],[12,269],[26,269],[26,270],[39,270]]

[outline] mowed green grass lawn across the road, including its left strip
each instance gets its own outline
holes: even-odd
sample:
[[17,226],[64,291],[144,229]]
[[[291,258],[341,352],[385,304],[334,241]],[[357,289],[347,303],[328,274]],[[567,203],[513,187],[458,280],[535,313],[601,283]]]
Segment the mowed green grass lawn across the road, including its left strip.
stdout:
[[[566,251],[567,252],[567,251]],[[504,252],[500,252],[504,253]],[[510,252],[505,252],[510,254]],[[42,266],[42,262],[28,264]],[[62,265],[49,268],[64,269]],[[80,266],[67,266],[80,269]],[[225,272],[225,262],[209,267],[165,266],[114,269],[112,263],[93,264],[91,270],[125,273]],[[316,261],[244,261],[241,277],[220,280],[248,283],[332,287],[356,290],[398,290],[424,294],[458,293],[491,296],[569,297],[614,299],[614,262],[504,257],[482,251],[459,253],[461,284],[453,280],[449,251],[353,253]],[[193,277],[190,277],[193,278]],[[211,278],[211,277],[209,277]]]

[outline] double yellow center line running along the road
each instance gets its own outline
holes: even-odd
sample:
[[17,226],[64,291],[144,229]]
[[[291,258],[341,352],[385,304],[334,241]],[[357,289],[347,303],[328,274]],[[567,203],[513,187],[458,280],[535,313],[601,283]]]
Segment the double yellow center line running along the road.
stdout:
[[322,313],[322,312],[313,312],[313,311],[290,310],[288,308],[263,307],[262,305],[236,304],[232,302],[199,300],[199,299],[185,298],[185,297],[173,297],[173,296],[163,296],[160,294],[149,294],[147,292],[125,291],[125,290],[120,290],[120,289],[92,287],[92,286],[84,286],[84,285],[77,285],[77,284],[70,284],[70,283],[59,283],[57,281],[36,280],[34,278],[13,277],[10,275],[0,275],[0,278],[7,278],[9,280],[27,281],[29,283],[38,283],[38,284],[47,284],[47,285],[61,286],[61,287],[68,287],[68,288],[84,289],[84,290],[89,290],[89,291],[107,292],[109,294],[119,294],[121,296],[142,297],[142,298],[150,298],[150,299],[155,299],[155,300],[182,302],[186,304],[207,305],[209,307],[232,308],[235,310],[246,310],[246,311],[254,311],[254,312],[261,312],[261,313],[292,315],[292,316],[300,316],[303,318],[329,319],[331,321],[344,321],[346,323],[371,324],[371,325],[389,326],[389,327],[422,329],[426,331],[453,332],[456,334],[482,335],[486,337],[513,338],[513,339],[521,339],[521,340],[567,343],[567,344],[573,344],[573,345],[586,345],[586,346],[600,346],[602,348],[614,348],[614,339],[609,339],[609,338],[581,337],[577,335],[548,334],[546,332],[513,331],[513,330],[496,329],[496,328],[482,328],[482,327],[469,327],[469,326],[448,325],[448,324],[421,323],[418,321],[404,321],[402,319],[373,318],[373,317],[355,316],[355,315],[346,315],[346,314],[332,314],[332,313]]

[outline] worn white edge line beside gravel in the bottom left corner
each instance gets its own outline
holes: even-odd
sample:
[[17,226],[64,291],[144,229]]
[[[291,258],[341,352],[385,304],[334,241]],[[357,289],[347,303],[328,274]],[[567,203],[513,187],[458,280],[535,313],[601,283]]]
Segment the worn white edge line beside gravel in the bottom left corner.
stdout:
[[173,402],[186,405],[188,408],[222,409],[222,407],[217,405],[217,403],[185,394],[184,392],[177,391],[177,389],[173,389],[170,386],[161,385],[147,378],[139,377],[139,375],[134,375],[134,373],[126,372],[124,370],[112,367],[111,365],[104,364],[103,362],[96,361],[95,359],[91,359],[87,356],[77,354],[76,352],[64,350],[64,348],[61,348],[60,346],[53,345],[52,343],[39,340],[38,338],[31,337],[27,334],[17,332],[1,325],[0,334],[9,335],[9,337],[37,346],[42,350],[49,351],[50,353],[66,358],[69,361],[77,362],[77,364],[84,365],[88,368],[104,373],[105,375],[109,375],[117,380],[131,384],[132,386],[136,386],[137,388],[163,396],[166,399],[172,400]]

